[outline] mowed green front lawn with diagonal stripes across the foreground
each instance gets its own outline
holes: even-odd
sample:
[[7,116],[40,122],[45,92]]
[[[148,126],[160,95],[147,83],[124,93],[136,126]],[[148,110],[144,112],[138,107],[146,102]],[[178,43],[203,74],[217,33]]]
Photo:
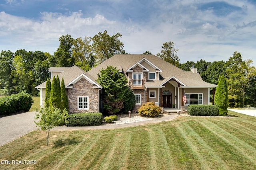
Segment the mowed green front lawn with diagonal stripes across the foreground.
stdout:
[[0,147],[9,169],[256,169],[256,118],[185,117],[111,130],[33,131]]

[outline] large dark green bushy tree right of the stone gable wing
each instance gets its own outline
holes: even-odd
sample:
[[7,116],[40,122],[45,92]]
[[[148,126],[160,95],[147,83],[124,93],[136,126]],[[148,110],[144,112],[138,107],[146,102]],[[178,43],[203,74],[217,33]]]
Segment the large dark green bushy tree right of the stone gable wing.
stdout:
[[97,82],[103,86],[103,109],[104,113],[117,114],[127,113],[135,106],[133,92],[127,86],[127,79],[114,66],[100,70]]

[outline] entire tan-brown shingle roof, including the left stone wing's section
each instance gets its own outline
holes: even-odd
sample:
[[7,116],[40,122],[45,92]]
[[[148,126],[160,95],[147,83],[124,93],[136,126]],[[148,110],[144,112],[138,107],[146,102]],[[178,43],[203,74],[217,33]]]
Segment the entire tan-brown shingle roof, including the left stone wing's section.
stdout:
[[[168,81],[170,78],[176,78],[178,81],[182,82],[187,87],[216,87],[215,84],[210,84],[204,82],[201,76],[198,73],[192,73],[191,71],[184,71],[158,57],[155,55],[114,55],[110,59],[104,61],[103,63],[99,64],[98,66],[94,67],[93,69],[85,72],[81,68],[77,66],[72,66],[70,68],[67,67],[51,67],[49,71],[60,71],[63,70],[64,72],[58,74],[60,81],[63,77],[65,86],[70,84],[74,79],[76,79],[81,74],[86,75],[88,78],[93,80],[97,86],[100,86],[96,82],[98,78],[98,74],[102,68],[106,68],[107,66],[115,66],[120,71],[126,71],[128,68],[136,64],[138,61],[146,58],[152,64],[157,66],[162,70],[160,75],[162,76],[163,80],[150,80],[145,82],[145,86],[162,86],[164,82]],[[125,74],[126,75],[126,74]],[[127,75],[126,75],[127,77]],[[51,79],[52,81],[52,79]],[[182,85],[181,84],[181,85]],[[45,88],[46,82],[40,84],[36,88]]]

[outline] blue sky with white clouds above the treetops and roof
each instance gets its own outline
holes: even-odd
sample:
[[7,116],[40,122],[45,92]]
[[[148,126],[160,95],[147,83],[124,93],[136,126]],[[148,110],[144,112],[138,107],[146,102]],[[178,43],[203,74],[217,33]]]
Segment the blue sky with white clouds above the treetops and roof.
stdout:
[[53,53],[59,37],[121,33],[124,50],[156,55],[173,41],[180,63],[227,61],[234,51],[256,65],[254,0],[0,0],[0,51]]

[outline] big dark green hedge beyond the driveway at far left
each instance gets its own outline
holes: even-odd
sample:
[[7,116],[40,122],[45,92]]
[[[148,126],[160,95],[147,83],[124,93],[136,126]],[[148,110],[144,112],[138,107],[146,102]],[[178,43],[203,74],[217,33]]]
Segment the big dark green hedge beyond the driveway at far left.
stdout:
[[0,115],[29,111],[33,102],[32,96],[25,92],[2,97],[0,98]]

